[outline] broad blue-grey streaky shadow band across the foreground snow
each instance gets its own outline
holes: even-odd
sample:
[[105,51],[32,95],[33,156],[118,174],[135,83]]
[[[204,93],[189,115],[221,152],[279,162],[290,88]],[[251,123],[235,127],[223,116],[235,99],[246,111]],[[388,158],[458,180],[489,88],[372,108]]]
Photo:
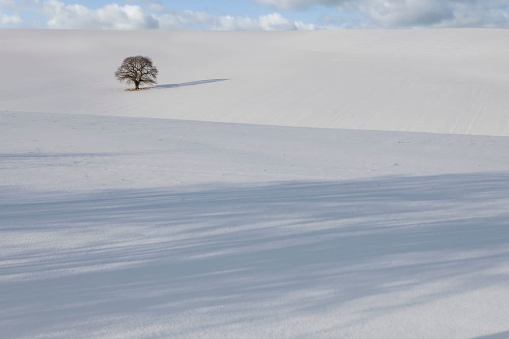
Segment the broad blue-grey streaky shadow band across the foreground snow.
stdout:
[[[0,206],[0,232],[49,244],[5,244],[16,254],[3,257],[0,325],[19,335],[101,317],[164,314],[171,322],[214,307],[247,325],[239,310],[291,317],[454,281],[364,310],[376,317],[506,282],[493,269],[509,260],[508,203],[508,173],[13,200]],[[173,334],[198,328],[182,326]]]

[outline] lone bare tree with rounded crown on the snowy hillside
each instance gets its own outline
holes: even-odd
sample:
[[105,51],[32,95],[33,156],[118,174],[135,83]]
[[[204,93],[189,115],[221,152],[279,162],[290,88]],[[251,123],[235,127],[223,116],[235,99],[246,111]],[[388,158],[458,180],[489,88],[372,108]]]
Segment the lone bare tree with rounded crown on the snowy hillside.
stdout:
[[149,57],[137,55],[126,57],[115,72],[115,77],[120,82],[134,83],[139,89],[140,84],[156,84],[158,72]]

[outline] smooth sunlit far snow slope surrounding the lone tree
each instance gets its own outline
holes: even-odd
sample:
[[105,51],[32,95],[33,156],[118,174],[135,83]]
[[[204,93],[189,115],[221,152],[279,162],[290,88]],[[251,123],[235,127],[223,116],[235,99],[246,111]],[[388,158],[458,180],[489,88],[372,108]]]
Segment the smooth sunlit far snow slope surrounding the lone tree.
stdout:
[[[509,31],[0,31],[11,111],[509,135]],[[113,73],[143,54],[157,90]],[[12,80],[11,80],[12,79]]]

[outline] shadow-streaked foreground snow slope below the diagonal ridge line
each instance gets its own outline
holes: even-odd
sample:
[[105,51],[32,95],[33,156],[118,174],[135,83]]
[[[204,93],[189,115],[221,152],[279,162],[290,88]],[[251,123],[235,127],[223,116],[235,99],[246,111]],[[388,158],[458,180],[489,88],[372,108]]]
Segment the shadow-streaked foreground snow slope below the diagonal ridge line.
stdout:
[[509,333],[509,138],[0,121],[4,337]]

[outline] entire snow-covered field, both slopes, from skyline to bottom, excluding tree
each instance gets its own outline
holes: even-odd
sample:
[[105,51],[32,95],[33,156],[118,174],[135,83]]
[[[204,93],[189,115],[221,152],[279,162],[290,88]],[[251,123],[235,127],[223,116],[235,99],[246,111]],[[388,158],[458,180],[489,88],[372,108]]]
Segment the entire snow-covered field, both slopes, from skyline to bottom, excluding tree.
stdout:
[[0,336],[509,337],[508,40],[0,30]]

